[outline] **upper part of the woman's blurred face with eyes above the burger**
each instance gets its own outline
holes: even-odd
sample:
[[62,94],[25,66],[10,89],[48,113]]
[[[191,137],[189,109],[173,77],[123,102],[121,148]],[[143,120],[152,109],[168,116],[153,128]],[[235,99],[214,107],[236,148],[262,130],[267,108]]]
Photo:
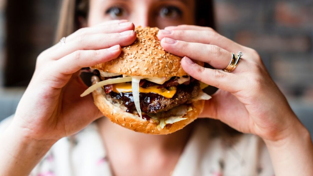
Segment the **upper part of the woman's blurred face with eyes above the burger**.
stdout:
[[135,26],[194,24],[195,0],[90,0],[88,26],[128,19]]

